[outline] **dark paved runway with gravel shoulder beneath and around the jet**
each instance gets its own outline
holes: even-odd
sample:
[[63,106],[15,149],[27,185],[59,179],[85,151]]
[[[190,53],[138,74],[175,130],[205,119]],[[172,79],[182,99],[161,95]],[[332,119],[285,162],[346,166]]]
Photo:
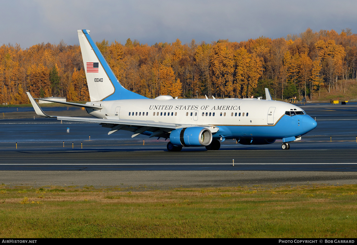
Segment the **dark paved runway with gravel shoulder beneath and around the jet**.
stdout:
[[[118,175],[120,179],[125,173],[128,186],[143,182],[154,187],[155,173],[156,180],[165,182],[166,187],[195,186],[196,182],[198,186],[211,186],[212,183],[225,186],[224,183],[249,184],[254,180],[301,184],[309,181],[307,179],[329,181],[330,184],[356,184],[357,103],[298,106],[316,119],[317,127],[302,136],[301,141],[291,142],[290,150],[281,150],[281,140],[258,146],[226,140],[219,151],[188,147],[181,152],[168,152],[165,140],[141,135],[131,139],[131,133],[125,131],[107,135],[108,129],[95,123],[61,123],[55,119],[33,119],[32,115],[27,119],[1,119],[0,181],[16,185],[28,180],[29,184],[35,185],[32,180],[41,179],[43,184],[52,181],[67,185],[79,181],[84,185],[89,180],[96,182],[96,176],[101,176],[102,182],[97,183],[98,186],[100,183],[121,185]],[[2,112],[4,110],[2,108]],[[49,110],[60,111],[53,107]],[[27,109],[22,111],[29,113]],[[16,115],[17,112],[11,109],[11,113]],[[163,173],[169,180],[162,177]],[[316,173],[318,176],[314,175]],[[73,174],[85,177],[80,180]],[[217,174],[222,176],[219,180],[215,177]],[[16,175],[21,175],[22,179],[16,179]],[[248,175],[250,177],[246,178]],[[45,180],[46,176],[52,177]],[[170,180],[176,181],[175,184],[170,184]]]

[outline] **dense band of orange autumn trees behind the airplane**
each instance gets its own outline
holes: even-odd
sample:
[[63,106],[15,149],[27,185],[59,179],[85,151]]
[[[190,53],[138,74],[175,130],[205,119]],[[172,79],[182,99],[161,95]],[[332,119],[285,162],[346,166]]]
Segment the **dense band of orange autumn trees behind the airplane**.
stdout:
[[[299,35],[260,37],[240,43],[140,44],[96,43],[120,83],[127,89],[154,98],[159,95],[193,98],[243,98],[264,96],[264,87],[275,99],[312,99],[321,89],[346,90],[347,79],[357,79],[357,36],[351,29],[310,28]],[[348,88],[347,88],[348,89]],[[26,103],[25,91],[34,97],[65,96],[89,100],[80,47],[37,44],[0,47],[0,102]]]

